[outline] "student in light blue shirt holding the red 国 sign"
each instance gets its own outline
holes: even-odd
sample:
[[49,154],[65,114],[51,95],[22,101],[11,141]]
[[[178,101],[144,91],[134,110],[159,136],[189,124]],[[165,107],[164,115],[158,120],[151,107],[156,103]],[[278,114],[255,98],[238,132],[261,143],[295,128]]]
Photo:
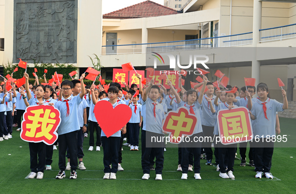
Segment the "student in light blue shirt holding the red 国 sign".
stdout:
[[[232,107],[237,107],[237,105],[233,104],[233,100],[235,99],[235,93],[230,91],[229,92],[225,91],[225,92],[226,92],[225,102],[218,103],[218,100],[214,101],[215,109],[213,109],[212,111],[213,114],[217,115],[217,112],[221,109],[231,110]],[[220,91],[216,91],[216,94],[217,94],[217,97],[219,97]],[[207,100],[209,101],[210,98],[207,98]],[[221,101],[223,100],[221,99]],[[215,120],[214,135],[216,136],[219,135],[217,118]],[[221,142],[218,142],[217,146],[218,146],[218,154],[219,154],[218,157],[219,157],[219,168],[220,168],[219,176],[222,178],[235,178],[235,176],[233,175],[233,171],[234,171],[233,165],[234,165],[234,159],[235,159],[236,144],[223,145]],[[227,158],[226,158],[226,154],[228,155]],[[225,158],[227,161],[227,169],[225,164]]]

